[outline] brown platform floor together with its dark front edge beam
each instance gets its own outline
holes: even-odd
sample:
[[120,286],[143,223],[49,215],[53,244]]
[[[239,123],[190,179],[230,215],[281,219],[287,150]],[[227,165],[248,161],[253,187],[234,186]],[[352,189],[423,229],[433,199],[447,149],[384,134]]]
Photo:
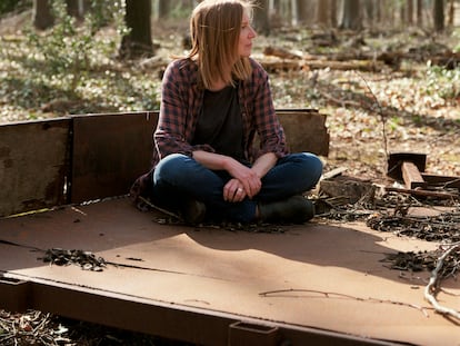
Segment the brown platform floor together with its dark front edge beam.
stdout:
[[[9,295],[23,301],[19,307],[193,345],[230,345],[236,322],[279,327],[279,345],[458,344],[456,320],[423,297],[430,273],[382,263],[389,254],[436,250],[438,241],[360,221],[266,233],[156,221],[162,217],[120,198],[0,219],[0,271],[10,283],[0,281],[0,307],[14,304]],[[51,266],[28,246],[88,250],[111,264],[103,271]],[[460,283],[450,278],[442,287],[439,299],[458,307]]]

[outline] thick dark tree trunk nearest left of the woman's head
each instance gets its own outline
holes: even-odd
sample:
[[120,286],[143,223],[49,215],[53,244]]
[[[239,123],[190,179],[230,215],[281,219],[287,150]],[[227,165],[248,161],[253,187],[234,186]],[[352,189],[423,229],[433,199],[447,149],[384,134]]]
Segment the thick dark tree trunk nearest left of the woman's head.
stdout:
[[130,32],[121,40],[121,58],[141,58],[153,56],[151,34],[150,0],[126,0],[124,20]]

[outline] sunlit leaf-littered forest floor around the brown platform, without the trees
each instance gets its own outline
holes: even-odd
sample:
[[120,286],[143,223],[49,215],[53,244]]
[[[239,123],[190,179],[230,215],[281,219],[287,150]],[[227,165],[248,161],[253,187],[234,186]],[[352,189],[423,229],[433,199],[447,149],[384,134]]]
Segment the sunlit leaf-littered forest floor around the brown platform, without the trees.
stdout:
[[[158,49],[153,58],[119,61],[113,57],[113,47],[110,50],[110,45],[103,46],[107,36],[114,33],[107,30],[99,37],[100,46],[88,48],[92,60],[87,70],[72,70],[72,63],[80,61],[78,57],[68,63],[54,57],[47,67],[43,57],[52,57],[49,53],[53,41],[42,42],[41,48],[33,46],[31,34],[19,30],[27,18],[24,14],[0,21],[0,123],[68,113],[158,109],[161,72],[171,55],[184,53],[186,27],[156,23]],[[343,167],[350,176],[382,180],[388,152],[399,150],[427,154],[428,172],[460,176],[460,68],[446,69],[431,60],[452,51],[458,38],[456,31],[436,36],[416,28],[361,33],[281,28],[270,37],[258,37],[253,56],[262,63],[272,62],[274,58],[263,51],[274,47],[297,56],[289,61],[302,61],[296,68],[270,70],[274,105],[277,109],[316,108],[327,115],[327,171]],[[327,66],[346,53],[356,69]],[[394,56],[371,70],[357,62],[366,56],[373,57],[370,62],[367,59],[368,63],[374,63],[382,53]],[[326,66],[314,68],[309,61]],[[54,345],[58,337],[62,337],[59,345],[173,345],[38,312],[1,312],[0,339],[7,333],[2,329],[6,325],[20,323],[50,326],[52,337],[47,344],[50,335],[44,335],[42,345]]]

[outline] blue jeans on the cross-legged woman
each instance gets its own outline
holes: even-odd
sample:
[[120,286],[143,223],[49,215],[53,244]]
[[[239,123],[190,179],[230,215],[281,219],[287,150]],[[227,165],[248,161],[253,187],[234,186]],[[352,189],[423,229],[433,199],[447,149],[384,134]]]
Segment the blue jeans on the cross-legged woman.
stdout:
[[223,200],[223,187],[232,178],[227,171],[210,170],[191,157],[172,154],[163,158],[152,175],[153,204],[179,211],[184,200],[193,198],[207,206],[207,218],[250,223],[256,218],[257,204],[286,199],[310,190],[322,172],[321,160],[308,152],[290,154],[261,179],[262,188],[252,199],[241,202]]

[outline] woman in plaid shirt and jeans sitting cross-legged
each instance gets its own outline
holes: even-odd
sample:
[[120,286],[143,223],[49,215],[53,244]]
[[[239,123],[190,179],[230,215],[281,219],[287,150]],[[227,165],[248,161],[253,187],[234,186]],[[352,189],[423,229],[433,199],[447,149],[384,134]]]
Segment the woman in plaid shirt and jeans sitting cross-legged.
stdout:
[[322,165],[288,152],[268,75],[250,58],[251,16],[243,0],[204,0],[193,10],[192,48],[164,73],[153,166],[131,188],[134,200],[148,198],[188,224],[313,217],[301,194]]

